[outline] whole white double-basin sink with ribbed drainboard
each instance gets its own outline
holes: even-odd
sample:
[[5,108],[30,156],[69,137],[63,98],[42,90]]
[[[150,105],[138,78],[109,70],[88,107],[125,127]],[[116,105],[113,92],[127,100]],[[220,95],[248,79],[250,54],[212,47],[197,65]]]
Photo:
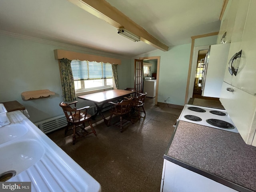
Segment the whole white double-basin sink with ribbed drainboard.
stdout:
[[101,192],[100,184],[22,112],[0,128],[0,181],[31,182],[32,191]]

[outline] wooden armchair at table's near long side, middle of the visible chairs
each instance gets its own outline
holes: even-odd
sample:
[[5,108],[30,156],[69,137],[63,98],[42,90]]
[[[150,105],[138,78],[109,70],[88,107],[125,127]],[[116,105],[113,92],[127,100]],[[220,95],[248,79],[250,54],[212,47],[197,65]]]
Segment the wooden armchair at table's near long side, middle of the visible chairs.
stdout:
[[[122,133],[122,128],[123,128],[124,123],[130,121],[133,124],[132,117],[130,114],[131,106],[132,106],[132,99],[122,100],[121,102],[117,102],[117,103],[114,103],[114,102],[108,102],[108,103],[110,103],[110,105],[111,105],[108,126],[112,125],[117,128],[120,128],[120,132]],[[111,119],[112,119],[113,115],[120,116],[120,123],[118,121],[118,122],[111,124]],[[125,116],[128,116],[128,119],[123,118]]]

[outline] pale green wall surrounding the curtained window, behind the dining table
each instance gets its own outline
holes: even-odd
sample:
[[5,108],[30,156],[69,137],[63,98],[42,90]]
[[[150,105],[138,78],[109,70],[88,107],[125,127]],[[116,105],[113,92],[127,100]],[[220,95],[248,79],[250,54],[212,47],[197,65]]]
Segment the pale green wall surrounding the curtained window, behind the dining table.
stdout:
[[[63,114],[59,106],[62,102],[62,90],[58,60],[54,59],[53,50],[64,49],[93,54],[74,46],[37,41],[0,35],[0,103],[17,100],[26,107],[32,122]],[[101,55],[104,56],[104,53]],[[106,56],[110,57],[109,54]],[[120,88],[130,86],[130,63],[130,59],[126,59],[118,65]],[[49,89],[55,92],[55,95],[28,101],[23,101],[20,96],[24,91],[41,89]],[[78,103],[78,107],[90,104],[81,99],[78,99]]]

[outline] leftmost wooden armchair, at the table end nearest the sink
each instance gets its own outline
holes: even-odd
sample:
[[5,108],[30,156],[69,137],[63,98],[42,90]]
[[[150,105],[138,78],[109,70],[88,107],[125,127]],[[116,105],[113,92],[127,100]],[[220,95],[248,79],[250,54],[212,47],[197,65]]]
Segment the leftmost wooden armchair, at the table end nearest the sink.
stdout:
[[[80,138],[91,133],[94,133],[94,135],[96,135],[96,131],[94,130],[91,123],[91,115],[87,114],[87,110],[88,108],[90,108],[90,106],[77,109],[76,104],[77,101],[69,104],[64,102],[60,103],[60,107],[62,108],[68,122],[67,128],[65,130],[65,135],[68,130],[73,129],[73,145],[76,142],[76,138]],[[72,108],[71,105],[74,105],[74,108]],[[87,130],[85,130],[85,122],[88,122],[88,124],[92,128],[92,132],[88,132]],[[76,130],[77,127],[80,127],[81,129]],[[76,135],[78,135],[78,137],[76,137]]]

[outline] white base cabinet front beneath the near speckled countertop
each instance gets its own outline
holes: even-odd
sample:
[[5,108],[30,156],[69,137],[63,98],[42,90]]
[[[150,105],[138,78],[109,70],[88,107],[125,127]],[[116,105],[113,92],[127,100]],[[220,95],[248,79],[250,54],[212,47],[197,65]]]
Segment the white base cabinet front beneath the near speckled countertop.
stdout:
[[214,180],[164,159],[164,180],[161,192],[237,192]]

